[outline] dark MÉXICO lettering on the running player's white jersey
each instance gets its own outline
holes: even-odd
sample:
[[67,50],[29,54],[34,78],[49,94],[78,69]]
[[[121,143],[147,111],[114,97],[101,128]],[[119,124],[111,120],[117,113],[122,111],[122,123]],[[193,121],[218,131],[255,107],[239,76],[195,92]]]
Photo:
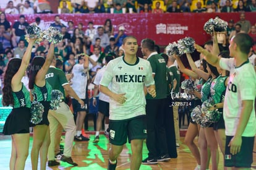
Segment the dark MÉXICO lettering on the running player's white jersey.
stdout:
[[145,75],[116,75],[116,82],[125,83],[143,83],[145,80]]

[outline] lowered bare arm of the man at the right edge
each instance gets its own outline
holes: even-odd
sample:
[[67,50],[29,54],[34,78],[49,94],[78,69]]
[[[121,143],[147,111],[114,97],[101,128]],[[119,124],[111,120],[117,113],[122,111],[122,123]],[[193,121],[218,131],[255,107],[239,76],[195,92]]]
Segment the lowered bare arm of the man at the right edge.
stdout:
[[239,151],[241,150],[242,134],[244,133],[244,129],[249,121],[253,106],[253,100],[242,100],[241,116],[239,117],[236,134],[228,144],[228,146],[230,147],[230,153],[233,155],[239,153]]

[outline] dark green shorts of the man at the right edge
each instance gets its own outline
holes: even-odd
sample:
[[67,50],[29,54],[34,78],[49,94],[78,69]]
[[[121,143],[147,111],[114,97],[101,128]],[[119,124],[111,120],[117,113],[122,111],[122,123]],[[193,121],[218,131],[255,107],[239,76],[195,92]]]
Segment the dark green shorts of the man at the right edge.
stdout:
[[226,137],[224,165],[226,167],[250,168],[253,162],[254,137],[242,137],[241,150],[236,155],[232,155],[230,153],[230,147],[228,147],[232,138],[233,136]]

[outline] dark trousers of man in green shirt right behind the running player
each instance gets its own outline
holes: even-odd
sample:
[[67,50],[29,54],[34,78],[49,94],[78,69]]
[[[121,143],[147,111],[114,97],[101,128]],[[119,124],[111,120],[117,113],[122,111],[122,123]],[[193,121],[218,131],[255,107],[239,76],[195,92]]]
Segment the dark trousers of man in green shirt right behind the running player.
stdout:
[[[166,132],[164,128],[164,113],[166,109],[166,99],[147,100],[147,148],[148,158],[157,158],[168,153],[166,142]],[[159,150],[156,150],[158,143]]]

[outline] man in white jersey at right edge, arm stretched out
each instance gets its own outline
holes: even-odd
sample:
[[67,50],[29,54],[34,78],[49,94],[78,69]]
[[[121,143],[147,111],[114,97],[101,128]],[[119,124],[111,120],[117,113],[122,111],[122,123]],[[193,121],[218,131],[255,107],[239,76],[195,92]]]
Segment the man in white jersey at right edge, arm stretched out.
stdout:
[[252,45],[253,40],[247,33],[237,33],[229,45],[233,57],[230,59],[220,59],[195,45],[210,64],[230,71],[223,108],[226,127],[224,166],[232,169],[250,169],[253,162],[256,74],[248,59]]

